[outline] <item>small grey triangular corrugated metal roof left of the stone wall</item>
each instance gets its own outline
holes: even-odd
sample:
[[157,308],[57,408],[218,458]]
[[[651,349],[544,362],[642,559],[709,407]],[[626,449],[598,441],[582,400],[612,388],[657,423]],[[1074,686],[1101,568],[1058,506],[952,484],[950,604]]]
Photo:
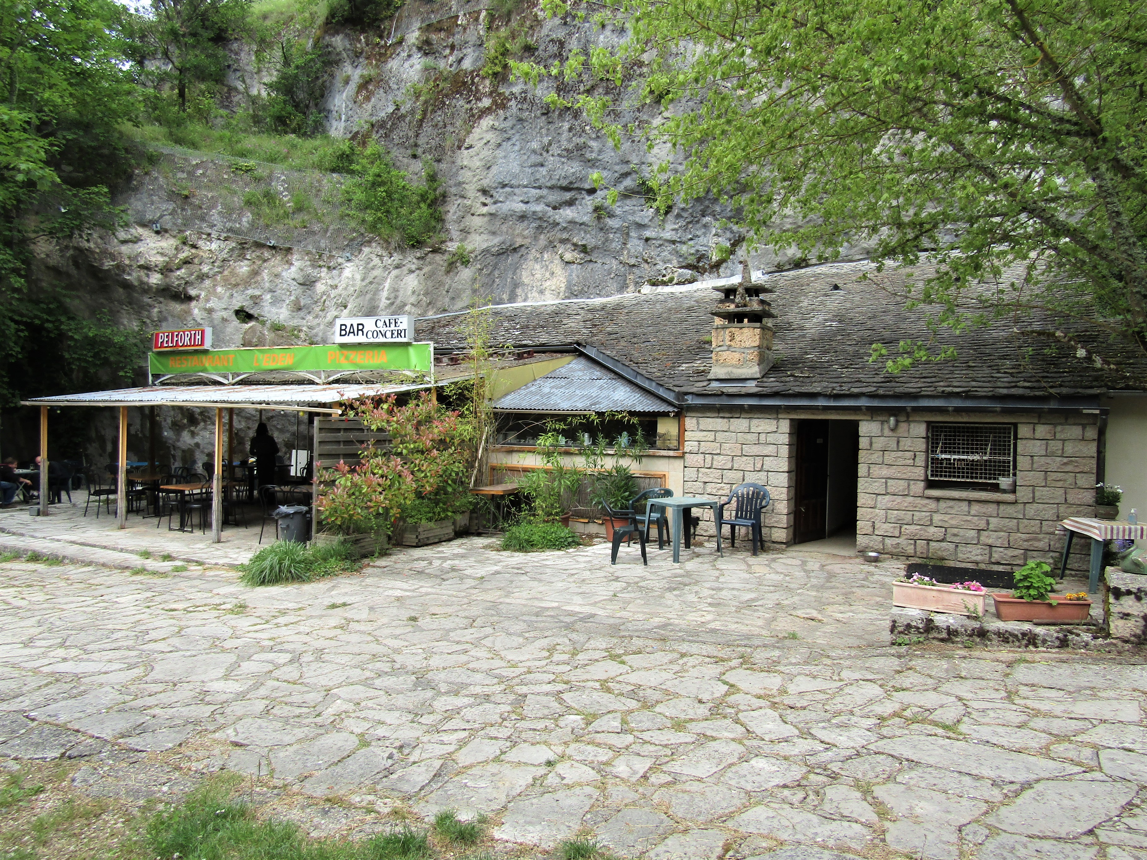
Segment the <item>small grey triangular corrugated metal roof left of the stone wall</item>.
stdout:
[[494,402],[498,412],[643,412],[668,415],[677,406],[584,355]]

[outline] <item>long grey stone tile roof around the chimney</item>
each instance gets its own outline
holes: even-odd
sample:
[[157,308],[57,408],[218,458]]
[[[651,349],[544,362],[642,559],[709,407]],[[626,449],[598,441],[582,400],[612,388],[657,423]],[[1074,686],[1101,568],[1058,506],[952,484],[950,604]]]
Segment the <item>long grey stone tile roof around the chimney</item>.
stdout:
[[[874,280],[860,280],[865,273]],[[1103,354],[1131,373],[1105,372],[1077,358],[1075,347],[1031,334],[1048,327],[1033,319],[1019,325],[1001,320],[962,335],[944,329],[936,344],[955,346],[958,358],[894,375],[885,372],[883,361],[868,361],[872,344],[881,342],[895,353],[903,339],[930,337],[928,308],[910,311],[897,295],[904,287],[903,273],[876,274],[869,263],[850,263],[771,274],[767,283],[774,290],[768,298],[777,314],[779,361],[764,378],[746,386],[712,385],[707,378],[710,311],[718,297],[708,286],[496,306],[491,343],[533,349],[593,346],[687,394],[1082,397],[1140,390],[1132,375],[1147,376],[1147,361],[1130,349],[1105,344]],[[438,351],[463,349],[460,321],[461,314],[421,318],[415,323],[416,337],[434,341]]]

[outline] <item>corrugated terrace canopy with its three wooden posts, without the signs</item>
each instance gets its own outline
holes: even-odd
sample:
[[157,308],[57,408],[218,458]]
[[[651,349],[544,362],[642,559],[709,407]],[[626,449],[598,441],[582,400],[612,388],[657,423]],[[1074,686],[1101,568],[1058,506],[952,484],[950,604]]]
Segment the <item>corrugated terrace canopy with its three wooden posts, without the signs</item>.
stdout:
[[[48,514],[48,409],[61,406],[118,406],[119,407],[119,475],[117,478],[117,518],[126,527],[127,505],[127,408],[131,406],[194,406],[214,408],[214,470],[212,474],[212,540],[218,544],[223,530],[223,411],[290,409],[320,415],[337,415],[336,404],[359,397],[393,394],[403,391],[431,388],[432,383],[383,385],[381,383],[351,383],[345,385],[149,385],[111,391],[92,391],[83,394],[56,394],[22,401],[24,406],[40,407],[40,514]],[[229,458],[228,458],[229,459]]]

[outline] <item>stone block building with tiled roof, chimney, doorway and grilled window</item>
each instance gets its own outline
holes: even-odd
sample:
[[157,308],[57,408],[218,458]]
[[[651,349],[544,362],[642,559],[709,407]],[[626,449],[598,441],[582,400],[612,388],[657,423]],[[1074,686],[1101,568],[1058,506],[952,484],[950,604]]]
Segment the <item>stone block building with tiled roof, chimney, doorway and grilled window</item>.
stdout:
[[[658,435],[657,468],[638,470],[708,498],[763,484],[775,544],[836,535],[840,545],[855,530],[859,552],[1013,568],[1053,561],[1056,525],[1093,513],[1099,480],[1124,486],[1124,515],[1147,513],[1147,467],[1133,453],[1147,411],[1132,385],[1140,357],[1116,355],[1134,373],[1105,370],[1086,342],[1041,334],[1041,320],[935,334],[926,308],[906,307],[905,289],[904,273],[867,263],[744,272],[497,306],[491,341],[579,357],[618,391],[640,391],[642,408],[660,400],[658,421],[676,419],[680,432]],[[416,322],[439,355],[465,349],[457,327],[455,315]],[[895,353],[902,341],[957,355],[899,374],[872,360],[873,344]],[[549,386],[547,399],[544,380],[517,394],[532,398],[535,415],[595,408],[572,402],[569,389]],[[530,463],[530,446],[516,441],[501,439],[492,462]]]

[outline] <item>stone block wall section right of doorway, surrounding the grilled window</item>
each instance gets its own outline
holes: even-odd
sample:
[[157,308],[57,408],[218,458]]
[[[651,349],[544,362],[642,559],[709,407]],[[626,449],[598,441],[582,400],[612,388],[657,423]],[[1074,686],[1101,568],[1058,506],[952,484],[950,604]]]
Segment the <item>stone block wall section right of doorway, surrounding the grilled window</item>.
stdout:
[[[1092,516],[1098,415],[1061,413],[891,413],[860,421],[857,549],[968,566],[1013,568],[1055,561],[1055,526]],[[984,493],[927,486],[928,423],[1016,425],[1016,491]],[[1076,541],[1071,569],[1086,570],[1089,541]]]

